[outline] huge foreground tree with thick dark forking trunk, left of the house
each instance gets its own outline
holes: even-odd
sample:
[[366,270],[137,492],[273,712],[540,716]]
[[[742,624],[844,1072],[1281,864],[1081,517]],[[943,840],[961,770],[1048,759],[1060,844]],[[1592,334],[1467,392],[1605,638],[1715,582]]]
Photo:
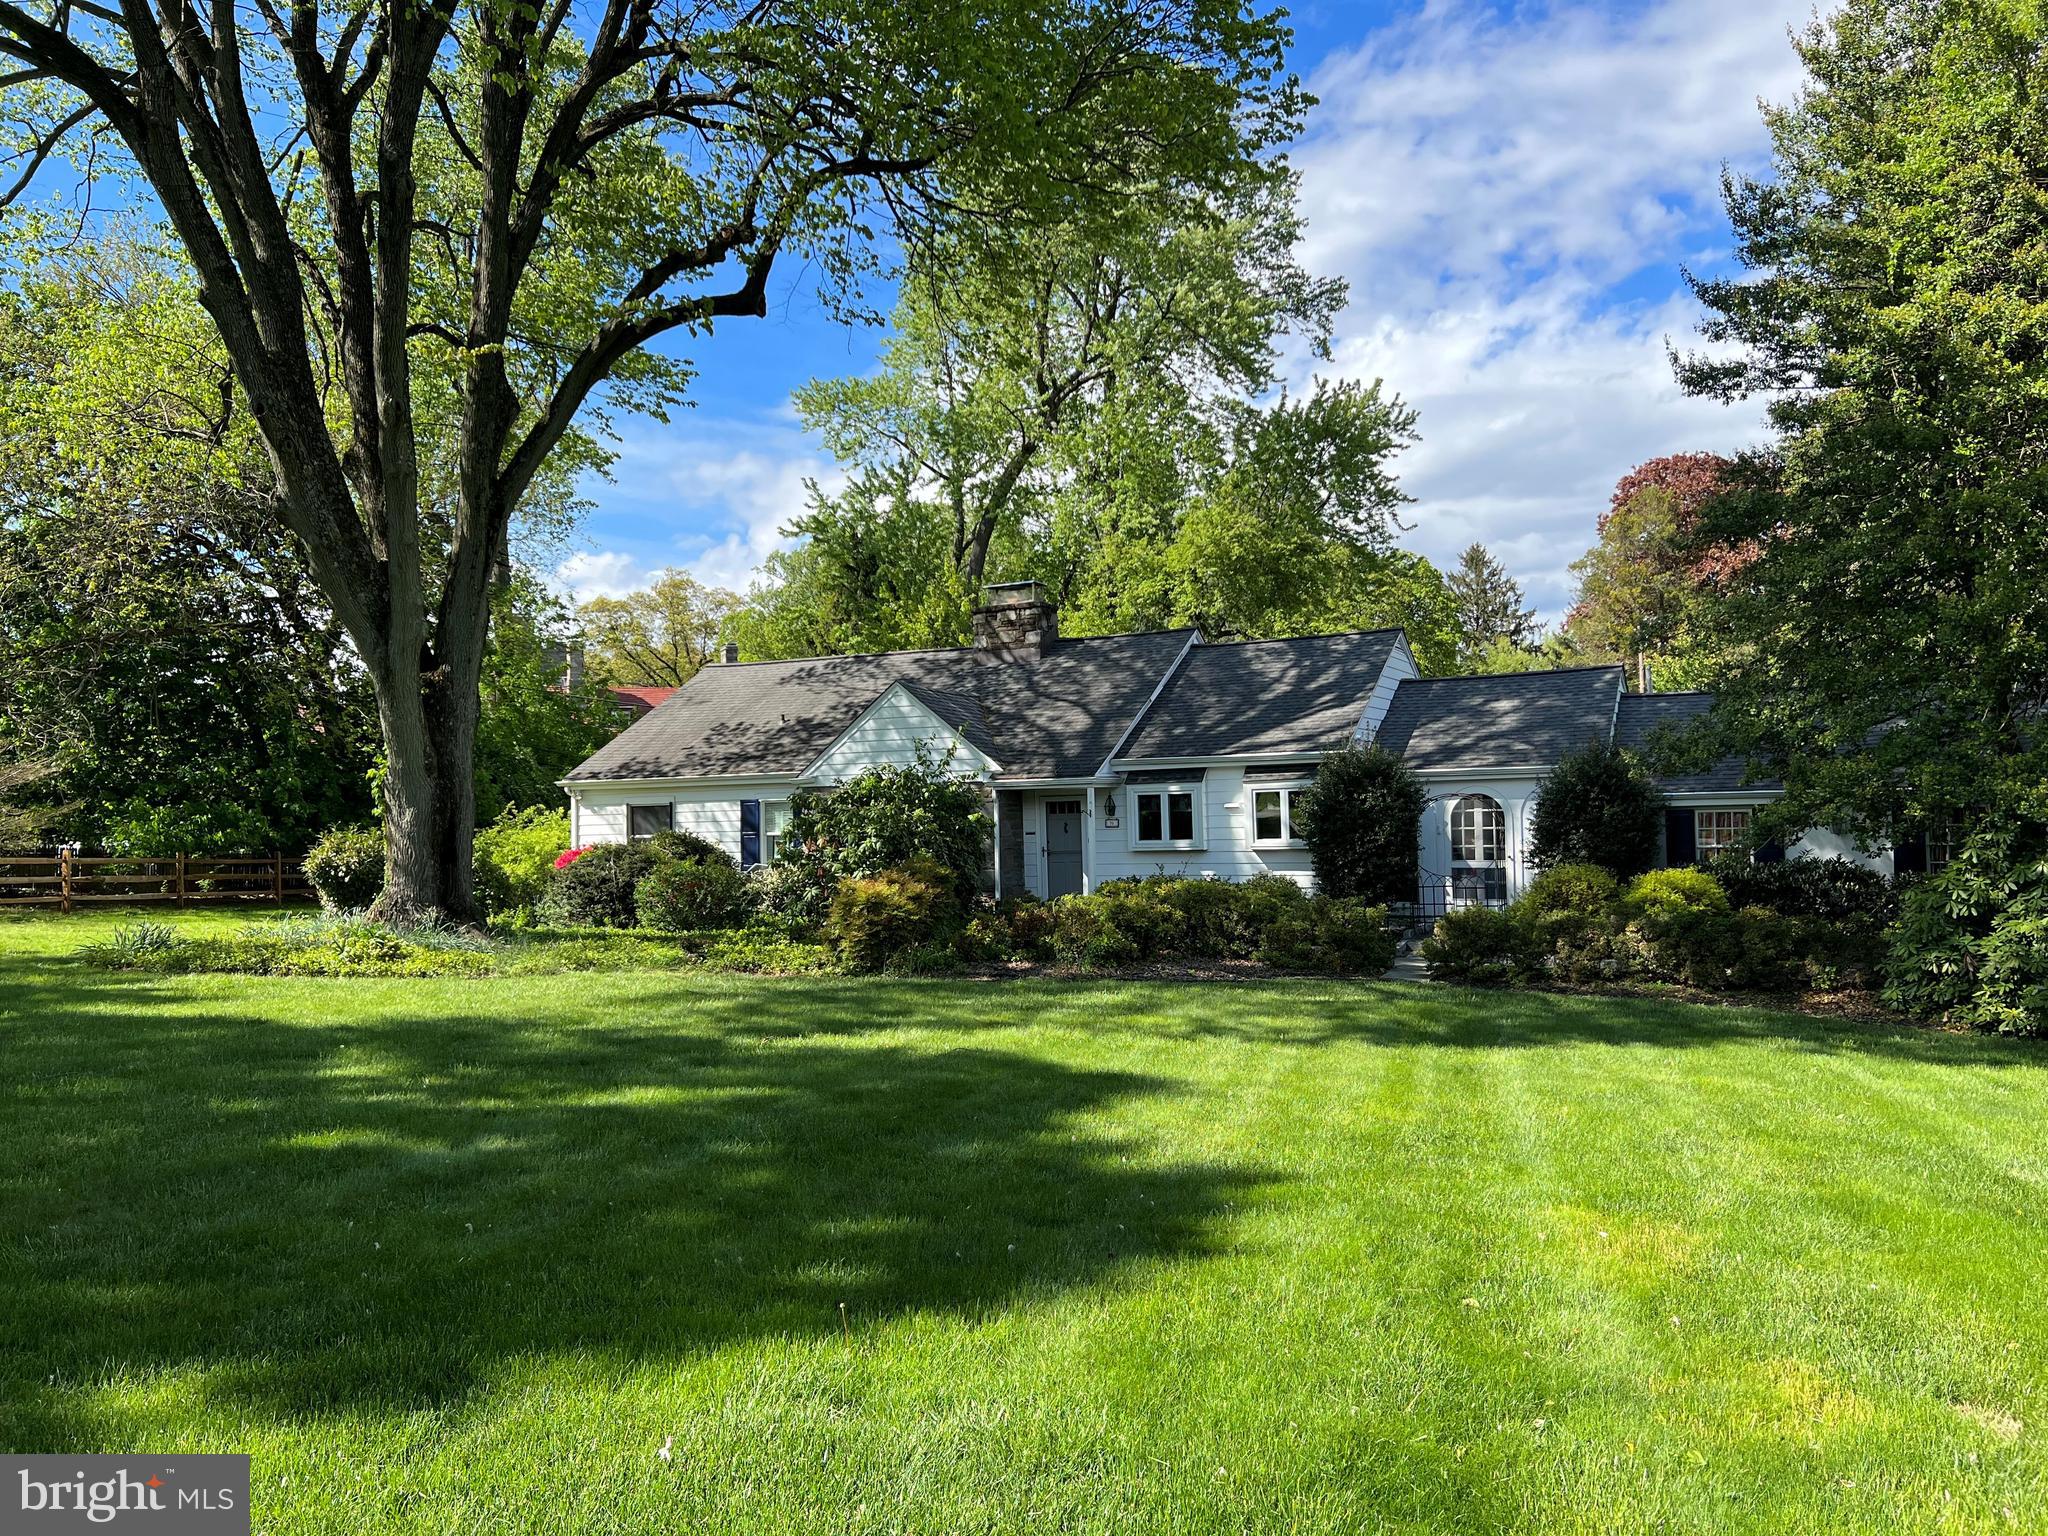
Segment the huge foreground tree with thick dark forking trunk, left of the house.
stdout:
[[[383,911],[471,911],[471,756],[514,508],[643,350],[836,297],[991,223],[1081,223],[1292,131],[1284,29],[1235,0],[0,0],[31,182],[119,150],[190,260],[299,541],[377,694]],[[457,426],[422,436],[422,406]],[[436,473],[444,516],[422,492]]]

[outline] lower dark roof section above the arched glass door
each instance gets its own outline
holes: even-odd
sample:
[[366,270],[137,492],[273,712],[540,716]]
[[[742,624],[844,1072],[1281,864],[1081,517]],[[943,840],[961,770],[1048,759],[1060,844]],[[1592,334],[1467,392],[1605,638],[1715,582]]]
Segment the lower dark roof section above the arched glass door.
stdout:
[[1419,770],[1544,766],[1610,741],[1620,694],[1618,666],[1405,678],[1376,739]]

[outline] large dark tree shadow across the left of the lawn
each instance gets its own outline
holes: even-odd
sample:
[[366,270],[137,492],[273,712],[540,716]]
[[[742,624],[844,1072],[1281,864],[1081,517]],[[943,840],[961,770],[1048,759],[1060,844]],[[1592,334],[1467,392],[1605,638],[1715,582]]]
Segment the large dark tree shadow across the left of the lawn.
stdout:
[[[973,1317],[1210,1251],[1262,1178],[1077,1118],[1153,1077],[762,1047],[707,1030],[731,999],[698,991],[592,987],[545,1022],[406,1018],[385,993],[281,1024],[53,981],[0,971],[6,1450],[119,1434],[90,1407],[113,1370],[190,1368],[233,1411],[406,1409],[526,1354],[815,1337],[842,1303],[856,1335]],[[688,1008],[690,1030],[623,1008]]]

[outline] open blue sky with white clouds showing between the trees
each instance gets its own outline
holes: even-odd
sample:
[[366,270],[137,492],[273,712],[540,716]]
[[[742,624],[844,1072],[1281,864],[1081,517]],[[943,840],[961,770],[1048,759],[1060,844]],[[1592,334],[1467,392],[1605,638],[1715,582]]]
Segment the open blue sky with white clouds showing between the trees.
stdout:
[[[1292,160],[1317,272],[1350,283],[1335,358],[1292,383],[1384,379],[1419,410],[1399,463],[1403,543],[1440,563],[1487,543],[1554,618],[1614,481],[1645,459],[1735,449],[1755,408],[1683,399],[1667,344],[1696,309],[1679,266],[1726,258],[1722,164],[1761,168],[1761,100],[1798,86],[1810,0],[1630,6],[1294,6],[1321,98]],[[694,344],[694,406],[623,422],[610,483],[557,567],[590,596],[680,565],[743,588],[805,477],[831,461],[788,393],[872,365],[877,334],[788,283],[766,322]]]

